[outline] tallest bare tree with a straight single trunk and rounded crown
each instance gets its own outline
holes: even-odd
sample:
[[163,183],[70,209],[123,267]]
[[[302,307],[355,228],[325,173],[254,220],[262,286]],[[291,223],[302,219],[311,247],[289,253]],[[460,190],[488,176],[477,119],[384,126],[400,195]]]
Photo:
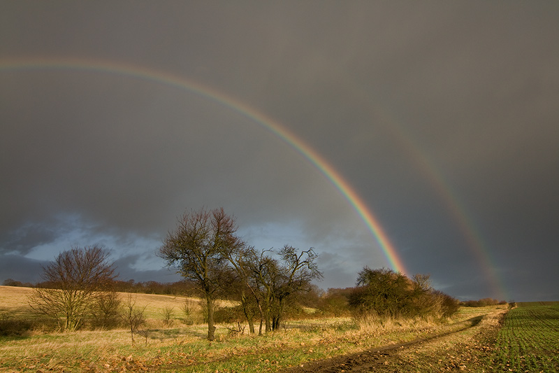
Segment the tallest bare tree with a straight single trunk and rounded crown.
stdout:
[[184,279],[194,281],[205,297],[210,341],[215,337],[215,300],[228,276],[226,253],[245,245],[237,237],[237,229],[235,219],[224,209],[184,213],[157,253],[168,267],[175,267]]

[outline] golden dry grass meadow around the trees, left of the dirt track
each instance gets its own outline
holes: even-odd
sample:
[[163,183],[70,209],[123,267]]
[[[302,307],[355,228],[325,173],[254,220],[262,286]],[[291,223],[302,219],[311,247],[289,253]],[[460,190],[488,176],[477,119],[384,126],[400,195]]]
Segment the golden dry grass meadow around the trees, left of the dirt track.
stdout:
[[[0,287],[4,309],[29,307],[29,288]],[[125,299],[128,294],[122,294]],[[456,325],[495,311],[463,309],[446,323],[434,321],[384,321],[359,328],[350,318],[287,321],[285,328],[262,337],[230,335],[227,326],[217,325],[216,340],[208,342],[207,325],[184,325],[181,318],[186,298],[168,295],[133,294],[138,307],[146,307],[150,330],[146,340],[131,344],[125,329],[74,333],[31,332],[26,337],[0,337],[0,371],[115,372],[119,370],[168,370],[180,372],[261,372],[280,370],[310,360],[364,351],[375,346],[408,342],[458,328]],[[192,300],[196,302],[196,300]],[[173,307],[175,323],[165,327],[161,310]],[[256,325],[258,328],[258,325]],[[248,328],[246,329],[248,330]]]

